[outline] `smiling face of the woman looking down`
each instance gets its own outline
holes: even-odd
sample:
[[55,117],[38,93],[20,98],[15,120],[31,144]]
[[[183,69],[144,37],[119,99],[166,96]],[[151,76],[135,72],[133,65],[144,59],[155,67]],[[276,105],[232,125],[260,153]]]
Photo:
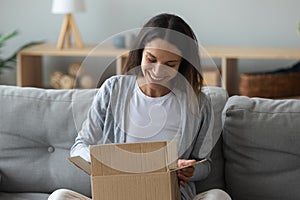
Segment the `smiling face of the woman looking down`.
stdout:
[[145,86],[152,90],[166,90],[178,73],[181,51],[173,44],[156,38],[147,43],[142,56]]

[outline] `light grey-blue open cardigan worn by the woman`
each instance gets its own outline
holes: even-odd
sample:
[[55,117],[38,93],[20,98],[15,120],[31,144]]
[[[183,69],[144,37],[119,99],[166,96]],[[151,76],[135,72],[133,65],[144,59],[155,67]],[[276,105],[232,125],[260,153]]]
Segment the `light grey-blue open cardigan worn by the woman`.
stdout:
[[[87,119],[71,148],[71,156],[80,155],[90,161],[89,146],[105,143],[125,143],[124,127],[125,108],[136,84],[136,76],[121,75],[107,79],[94,97]],[[184,85],[184,84],[183,84]],[[201,94],[195,101],[190,101],[189,89],[177,85],[172,89],[181,104],[182,134],[178,144],[181,159],[200,160],[209,155],[203,154],[203,141],[210,132],[212,118],[209,98]],[[201,148],[202,147],[202,148]],[[212,148],[212,147],[211,147]],[[201,151],[200,151],[201,150]],[[193,181],[206,178],[210,172],[210,161],[195,166],[194,176],[186,188],[181,187],[182,199],[192,199],[196,195]]]

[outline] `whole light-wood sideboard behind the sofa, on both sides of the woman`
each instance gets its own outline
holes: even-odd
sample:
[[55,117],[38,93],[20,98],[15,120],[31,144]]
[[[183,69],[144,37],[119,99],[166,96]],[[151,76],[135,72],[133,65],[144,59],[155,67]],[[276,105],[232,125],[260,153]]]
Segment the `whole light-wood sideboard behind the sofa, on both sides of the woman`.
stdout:
[[[82,49],[60,50],[55,44],[42,44],[26,48],[18,53],[17,85],[43,87],[43,56],[114,57],[117,61],[116,73],[120,74],[128,49],[117,49],[112,46],[95,47],[95,45],[84,45]],[[237,62],[239,59],[300,59],[300,48],[205,47],[205,51],[211,58],[221,59],[221,83],[230,96],[238,94],[239,90]]]

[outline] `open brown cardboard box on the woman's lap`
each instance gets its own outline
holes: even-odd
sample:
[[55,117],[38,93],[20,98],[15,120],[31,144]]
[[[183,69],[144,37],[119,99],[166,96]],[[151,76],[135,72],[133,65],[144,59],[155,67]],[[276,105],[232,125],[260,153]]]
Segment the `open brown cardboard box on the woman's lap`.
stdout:
[[93,200],[180,200],[176,142],[91,146],[91,164],[69,161],[90,174]]

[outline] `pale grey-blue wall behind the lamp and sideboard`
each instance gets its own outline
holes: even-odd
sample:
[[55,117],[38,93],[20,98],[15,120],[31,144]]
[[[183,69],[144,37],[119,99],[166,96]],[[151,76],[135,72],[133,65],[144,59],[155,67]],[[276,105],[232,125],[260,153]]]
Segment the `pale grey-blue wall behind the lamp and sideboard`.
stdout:
[[[51,0],[0,0],[0,33],[20,32],[1,49],[1,57],[29,41],[56,43],[63,16],[52,14],[51,4]],[[182,16],[205,46],[300,47],[299,8],[299,0],[86,0],[86,12],[75,14],[75,20],[85,43],[99,43],[142,26],[154,14],[169,12]],[[245,60],[240,62],[240,71],[268,70],[293,62]],[[15,71],[0,79],[14,84]]]

